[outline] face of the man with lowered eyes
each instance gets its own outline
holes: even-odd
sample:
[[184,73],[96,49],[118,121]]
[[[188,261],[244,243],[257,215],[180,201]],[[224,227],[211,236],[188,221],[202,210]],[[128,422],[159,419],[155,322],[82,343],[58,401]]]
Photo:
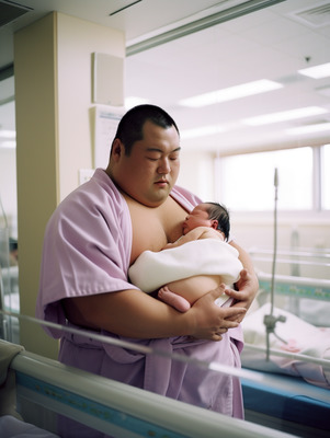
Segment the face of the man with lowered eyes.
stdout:
[[124,146],[120,155],[114,151],[112,176],[132,198],[148,207],[161,205],[177,182],[180,170],[180,139],[174,126],[161,128],[147,120],[143,140],[133,145],[130,155]]

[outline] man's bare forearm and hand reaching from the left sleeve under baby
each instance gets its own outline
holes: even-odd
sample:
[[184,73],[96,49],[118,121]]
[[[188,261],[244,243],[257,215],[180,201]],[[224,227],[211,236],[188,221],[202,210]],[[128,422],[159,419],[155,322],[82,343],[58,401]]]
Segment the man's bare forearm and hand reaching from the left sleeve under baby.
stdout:
[[214,304],[224,292],[218,288],[202,297],[187,312],[139,290],[122,290],[64,300],[66,315],[73,324],[106,330],[133,338],[193,336],[220,341],[221,334],[238,325],[242,308],[221,309]]

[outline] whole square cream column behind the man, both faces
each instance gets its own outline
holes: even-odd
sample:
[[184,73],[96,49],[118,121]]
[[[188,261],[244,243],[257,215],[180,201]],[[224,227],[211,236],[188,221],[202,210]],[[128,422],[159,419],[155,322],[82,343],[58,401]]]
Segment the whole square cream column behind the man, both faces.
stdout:
[[[89,114],[94,51],[124,58],[124,34],[53,12],[14,36],[20,306],[24,315],[35,315],[45,226],[58,203],[78,186],[79,169],[92,166]],[[57,357],[57,341],[37,325],[20,325],[26,350]]]

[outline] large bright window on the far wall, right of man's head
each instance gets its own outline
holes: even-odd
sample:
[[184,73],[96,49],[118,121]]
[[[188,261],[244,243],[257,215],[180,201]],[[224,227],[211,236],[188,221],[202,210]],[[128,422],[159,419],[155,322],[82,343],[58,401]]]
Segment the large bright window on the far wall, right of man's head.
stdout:
[[[329,165],[329,148],[325,151],[326,155]],[[230,210],[272,210],[275,199],[275,169],[278,175],[278,210],[312,209],[312,148],[247,153],[219,160],[220,165],[217,172],[220,187],[219,199]],[[328,178],[329,186],[329,173],[325,172],[325,178]],[[328,187],[328,193],[325,193],[328,206],[329,193]]]

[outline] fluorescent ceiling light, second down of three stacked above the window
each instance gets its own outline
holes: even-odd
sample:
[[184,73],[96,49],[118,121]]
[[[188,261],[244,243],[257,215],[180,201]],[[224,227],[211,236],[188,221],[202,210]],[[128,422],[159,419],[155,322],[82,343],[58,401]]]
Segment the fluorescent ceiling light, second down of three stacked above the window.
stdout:
[[258,117],[244,118],[242,123],[244,125],[252,125],[252,126],[269,125],[273,123],[294,120],[296,118],[304,118],[325,113],[328,113],[328,110],[321,108],[319,106],[306,106],[304,108],[289,110],[280,113],[265,114],[263,116],[258,116]]

